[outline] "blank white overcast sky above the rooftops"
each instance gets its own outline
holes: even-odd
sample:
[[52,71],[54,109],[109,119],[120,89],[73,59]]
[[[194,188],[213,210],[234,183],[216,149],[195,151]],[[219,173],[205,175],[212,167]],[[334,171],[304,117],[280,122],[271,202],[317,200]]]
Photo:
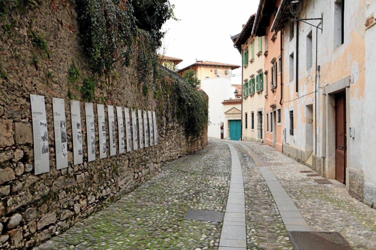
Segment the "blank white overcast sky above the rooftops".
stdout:
[[[169,20],[162,27],[167,34],[162,41],[165,55],[183,62],[178,69],[197,60],[241,65],[241,56],[233,47],[230,35],[241,32],[257,10],[259,0],[170,0],[180,21]],[[241,69],[232,72],[241,73]]]

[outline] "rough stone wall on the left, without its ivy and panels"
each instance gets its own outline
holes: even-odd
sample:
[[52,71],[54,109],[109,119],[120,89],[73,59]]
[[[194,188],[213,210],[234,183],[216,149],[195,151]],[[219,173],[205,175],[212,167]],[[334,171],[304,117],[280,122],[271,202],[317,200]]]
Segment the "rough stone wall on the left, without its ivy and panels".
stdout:
[[[207,145],[207,131],[195,139],[185,137],[176,103],[171,101],[176,99],[176,93],[172,87],[165,91],[173,81],[171,77],[164,74],[156,79],[150,73],[149,92],[143,91],[144,83],[139,81],[136,67],[136,47],[129,67],[118,63],[113,72],[98,76],[82,54],[74,10],[45,4],[22,15],[8,14],[4,22],[11,24],[13,20],[11,32],[6,32],[5,26],[0,28],[4,34],[0,38],[0,65],[5,73],[0,78],[0,248],[29,248],[49,239],[158,174],[165,163]],[[30,30],[45,33],[50,56],[32,44]],[[72,63],[79,67],[81,76],[70,83],[67,76]],[[112,157],[108,150],[107,158],[99,160],[94,105],[97,159],[88,163],[80,92],[86,77],[96,79],[93,103],[156,111],[158,145]],[[33,169],[30,93],[45,96],[50,172],[41,175],[34,175]],[[56,170],[52,97],[65,99],[69,167],[61,170]],[[76,166],[70,99],[81,101],[84,162]],[[108,126],[106,130],[109,148]]]

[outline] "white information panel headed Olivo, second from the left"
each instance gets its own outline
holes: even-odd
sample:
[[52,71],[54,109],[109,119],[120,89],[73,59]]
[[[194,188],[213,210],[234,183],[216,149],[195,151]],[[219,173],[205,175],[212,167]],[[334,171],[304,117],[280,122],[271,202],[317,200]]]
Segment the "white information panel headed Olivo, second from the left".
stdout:
[[67,124],[64,99],[52,98],[53,125],[55,130],[56,169],[68,167]]

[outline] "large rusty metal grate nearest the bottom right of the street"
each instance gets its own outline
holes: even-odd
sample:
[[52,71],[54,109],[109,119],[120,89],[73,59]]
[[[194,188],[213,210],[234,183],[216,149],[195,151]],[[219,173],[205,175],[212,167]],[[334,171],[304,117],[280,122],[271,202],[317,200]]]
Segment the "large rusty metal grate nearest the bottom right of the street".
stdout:
[[295,250],[352,250],[337,232],[288,231]]

